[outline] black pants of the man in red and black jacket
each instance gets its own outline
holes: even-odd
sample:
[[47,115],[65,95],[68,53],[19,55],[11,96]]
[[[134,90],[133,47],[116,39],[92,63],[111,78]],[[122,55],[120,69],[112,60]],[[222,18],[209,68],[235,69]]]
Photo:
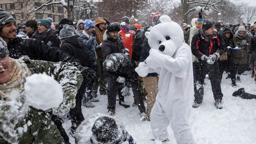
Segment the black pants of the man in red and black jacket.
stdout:
[[194,84],[194,92],[195,92],[195,103],[202,103],[204,96],[204,79],[205,75],[209,74],[209,78],[211,81],[212,92],[214,100],[217,98],[222,98],[223,94],[221,92],[220,87],[220,72],[218,67],[218,62],[216,61],[214,64],[207,64],[204,61],[199,61],[196,65],[196,83]]

